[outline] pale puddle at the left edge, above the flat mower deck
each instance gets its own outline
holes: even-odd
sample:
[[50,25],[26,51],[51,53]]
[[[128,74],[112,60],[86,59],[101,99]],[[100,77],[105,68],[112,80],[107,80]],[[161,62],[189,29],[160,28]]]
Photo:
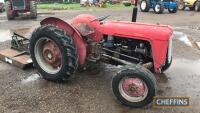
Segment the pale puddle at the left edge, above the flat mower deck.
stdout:
[[10,30],[0,30],[0,42],[11,40],[11,36]]

